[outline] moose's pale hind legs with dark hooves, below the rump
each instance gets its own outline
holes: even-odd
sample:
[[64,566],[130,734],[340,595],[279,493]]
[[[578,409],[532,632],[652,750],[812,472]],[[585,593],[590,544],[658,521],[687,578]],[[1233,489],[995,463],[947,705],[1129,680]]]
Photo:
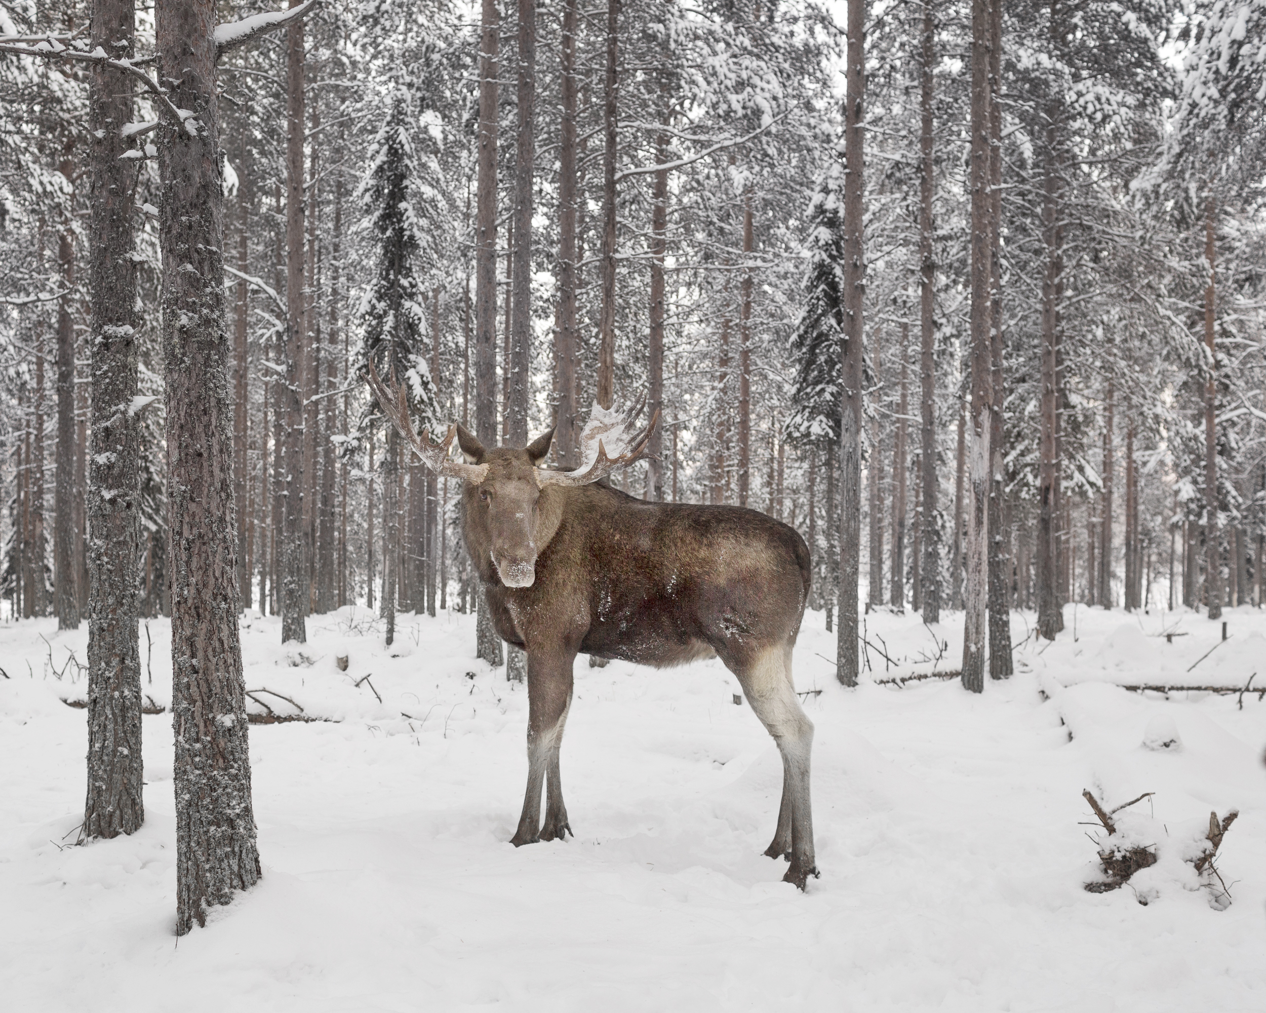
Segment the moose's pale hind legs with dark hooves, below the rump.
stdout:
[[801,890],[809,876],[818,875],[813,847],[813,808],[809,766],[813,751],[813,722],[800,707],[791,681],[791,651],[776,647],[761,652],[738,675],[747,700],[782,756],[782,799],[774,841],[765,853],[786,856],[790,869],[782,878]]

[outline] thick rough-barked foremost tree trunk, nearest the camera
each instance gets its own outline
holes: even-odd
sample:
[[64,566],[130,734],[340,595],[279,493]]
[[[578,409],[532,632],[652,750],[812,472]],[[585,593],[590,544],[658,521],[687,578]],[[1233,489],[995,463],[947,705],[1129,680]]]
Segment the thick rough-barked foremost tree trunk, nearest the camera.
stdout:
[[[260,879],[238,639],[233,446],[215,110],[215,4],[158,0],[162,338],[176,729],[176,934]],[[196,132],[196,135],[195,135]],[[192,270],[189,270],[192,267]]]

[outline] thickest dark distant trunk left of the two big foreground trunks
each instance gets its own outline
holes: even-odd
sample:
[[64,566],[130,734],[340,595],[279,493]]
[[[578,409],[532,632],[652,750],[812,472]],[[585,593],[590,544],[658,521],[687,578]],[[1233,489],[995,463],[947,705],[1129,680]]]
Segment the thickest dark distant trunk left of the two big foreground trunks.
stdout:
[[[65,158],[58,166],[67,186],[75,175],[73,163]],[[57,242],[57,262],[62,287],[67,294],[57,300],[57,481],[53,486],[53,575],[57,593],[57,628],[78,629],[78,569],[75,555],[75,469],[78,447],[75,439],[75,319],[71,315],[70,289],[75,285],[75,242],[70,223]]]

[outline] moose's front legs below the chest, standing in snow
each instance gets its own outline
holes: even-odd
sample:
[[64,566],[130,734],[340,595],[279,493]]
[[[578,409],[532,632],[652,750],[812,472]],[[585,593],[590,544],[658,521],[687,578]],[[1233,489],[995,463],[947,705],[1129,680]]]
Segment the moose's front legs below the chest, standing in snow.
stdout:
[[[565,838],[571,832],[562,800],[558,747],[571,707],[575,651],[528,651],[528,788],[523,815],[510,838],[515,847],[542,838]],[[541,788],[547,784],[546,824],[541,827]]]

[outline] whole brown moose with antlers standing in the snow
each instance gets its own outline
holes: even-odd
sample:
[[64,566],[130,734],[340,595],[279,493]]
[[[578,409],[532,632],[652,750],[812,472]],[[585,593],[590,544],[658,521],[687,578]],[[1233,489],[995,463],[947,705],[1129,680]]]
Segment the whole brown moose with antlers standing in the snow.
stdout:
[[[813,723],[791,680],[809,591],[809,550],[787,524],[743,507],[651,503],[603,481],[646,453],[658,413],[598,404],[582,465],[544,467],[553,429],[527,447],[485,447],[461,425],[419,437],[405,390],[375,371],[382,410],[432,471],[461,479],[466,548],[498,634],[528,657],[528,786],[511,843],[566,840],[558,750],[577,653],[668,667],[719,657],[782,755],[782,802],[765,853],[801,890],[817,876],[809,800]],[[394,385],[394,377],[392,377]],[[462,458],[449,457],[457,438]],[[541,824],[541,791],[546,815]]]

